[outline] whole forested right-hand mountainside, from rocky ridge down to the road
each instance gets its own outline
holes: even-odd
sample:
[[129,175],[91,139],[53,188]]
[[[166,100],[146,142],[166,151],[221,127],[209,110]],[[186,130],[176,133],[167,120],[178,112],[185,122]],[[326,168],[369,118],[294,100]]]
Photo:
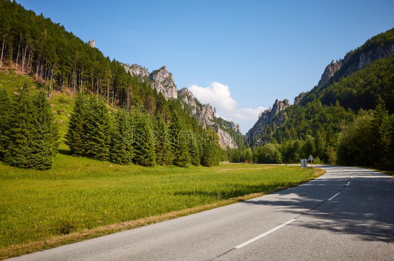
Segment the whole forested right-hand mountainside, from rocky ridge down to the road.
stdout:
[[[318,86],[301,93],[294,105],[263,112],[246,142],[251,146],[279,143],[275,146],[283,162],[312,154],[328,163],[393,168],[393,153],[389,153],[394,145],[393,106],[391,29],[367,40],[343,60],[332,61]],[[368,133],[364,142],[356,142],[356,137],[364,135],[358,131]]]

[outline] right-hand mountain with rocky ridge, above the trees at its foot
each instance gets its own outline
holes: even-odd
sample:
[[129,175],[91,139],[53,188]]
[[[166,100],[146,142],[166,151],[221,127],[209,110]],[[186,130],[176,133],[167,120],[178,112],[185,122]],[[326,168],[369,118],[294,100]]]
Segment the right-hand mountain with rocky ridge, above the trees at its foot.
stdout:
[[[350,120],[345,112],[339,112],[332,104],[357,112],[361,108],[373,109],[375,100],[382,97],[389,111],[393,112],[393,54],[394,29],[391,29],[371,37],[359,48],[348,52],[343,59],[332,60],[317,86],[309,92],[299,94],[294,99],[294,105],[277,100],[271,110],[264,111],[247,132],[247,143],[256,145],[269,141],[271,137],[287,139],[315,134],[316,127],[306,126],[308,117],[305,115],[322,113],[323,117],[323,114],[332,112],[338,117],[342,115],[342,119]],[[334,132],[340,130],[340,121],[327,122]],[[281,127],[282,125],[286,126]],[[275,130],[268,130],[272,127]]]

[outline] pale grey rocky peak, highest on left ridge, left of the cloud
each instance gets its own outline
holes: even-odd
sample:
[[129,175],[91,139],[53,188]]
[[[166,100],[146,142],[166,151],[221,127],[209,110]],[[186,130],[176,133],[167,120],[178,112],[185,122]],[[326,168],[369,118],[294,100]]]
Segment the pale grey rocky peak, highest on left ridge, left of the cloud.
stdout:
[[152,88],[163,94],[165,99],[178,98],[174,77],[172,73],[168,72],[167,66],[164,65],[160,69],[152,71],[149,78],[152,81]]

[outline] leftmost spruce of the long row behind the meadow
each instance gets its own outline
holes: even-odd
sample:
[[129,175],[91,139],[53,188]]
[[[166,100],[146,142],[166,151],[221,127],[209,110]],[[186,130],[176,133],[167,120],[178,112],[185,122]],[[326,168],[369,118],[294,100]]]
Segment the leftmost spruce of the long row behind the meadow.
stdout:
[[89,100],[83,93],[78,93],[65,136],[65,143],[74,155],[85,155],[84,144],[86,143],[87,135],[85,125],[88,112]]

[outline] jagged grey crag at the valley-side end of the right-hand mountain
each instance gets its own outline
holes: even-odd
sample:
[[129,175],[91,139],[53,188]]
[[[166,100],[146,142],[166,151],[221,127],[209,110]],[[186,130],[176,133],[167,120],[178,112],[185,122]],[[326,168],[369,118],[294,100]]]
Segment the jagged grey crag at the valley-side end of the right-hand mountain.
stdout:
[[[290,106],[289,100],[275,100],[275,103],[272,105],[272,109],[267,109],[263,111],[255,123],[255,125],[246,133],[246,138],[249,140],[254,140],[257,143],[260,142],[260,138],[257,140],[257,137],[261,130],[267,126],[275,123],[276,126],[282,125],[286,120],[286,111],[285,109]],[[279,115],[279,116],[278,116]]]

